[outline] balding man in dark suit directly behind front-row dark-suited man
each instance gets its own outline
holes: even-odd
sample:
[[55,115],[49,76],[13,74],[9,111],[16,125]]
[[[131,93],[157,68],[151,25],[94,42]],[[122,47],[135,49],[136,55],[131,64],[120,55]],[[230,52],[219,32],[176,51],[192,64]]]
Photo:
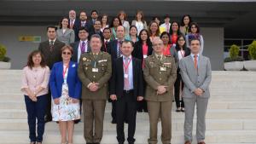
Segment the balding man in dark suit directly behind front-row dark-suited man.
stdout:
[[[115,59],[122,56],[122,51],[120,50],[121,43],[125,40],[125,27],[118,26],[116,30],[116,35],[118,39],[115,39],[108,43],[108,54],[111,55],[112,63]],[[116,124],[116,113],[115,113],[115,101],[112,101],[112,124]]]

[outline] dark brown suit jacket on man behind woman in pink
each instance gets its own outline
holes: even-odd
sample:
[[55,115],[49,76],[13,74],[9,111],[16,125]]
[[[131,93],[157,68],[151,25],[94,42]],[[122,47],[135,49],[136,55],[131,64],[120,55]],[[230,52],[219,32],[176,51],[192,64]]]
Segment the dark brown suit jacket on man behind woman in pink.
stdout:
[[49,66],[49,69],[52,68],[55,62],[62,60],[61,58],[61,48],[65,46],[65,43],[62,43],[58,39],[55,40],[54,48],[52,51],[49,49],[49,40],[44,41],[39,44],[38,50],[44,55],[46,65]]

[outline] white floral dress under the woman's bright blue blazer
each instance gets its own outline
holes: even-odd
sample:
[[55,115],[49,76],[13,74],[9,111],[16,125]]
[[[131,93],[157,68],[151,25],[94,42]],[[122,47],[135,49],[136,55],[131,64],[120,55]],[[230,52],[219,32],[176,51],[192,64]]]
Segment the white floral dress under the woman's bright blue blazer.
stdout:
[[71,121],[80,119],[80,106],[78,103],[73,103],[68,95],[68,85],[62,85],[62,92],[60,97],[60,104],[55,105],[53,102],[52,107],[52,120],[53,121]]

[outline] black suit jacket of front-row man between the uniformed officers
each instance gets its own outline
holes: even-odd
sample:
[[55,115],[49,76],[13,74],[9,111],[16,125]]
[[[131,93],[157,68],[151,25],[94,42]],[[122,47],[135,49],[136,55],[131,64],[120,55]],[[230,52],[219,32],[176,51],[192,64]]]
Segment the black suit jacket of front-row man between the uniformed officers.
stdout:
[[[134,98],[143,96],[143,67],[141,60],[132,57],[132,71],[133,71],[133,90]],[[123,96],[124,90],[124,66],[123,57],[119,57],[113,62],[112,78],[110,79],[110,95]]]

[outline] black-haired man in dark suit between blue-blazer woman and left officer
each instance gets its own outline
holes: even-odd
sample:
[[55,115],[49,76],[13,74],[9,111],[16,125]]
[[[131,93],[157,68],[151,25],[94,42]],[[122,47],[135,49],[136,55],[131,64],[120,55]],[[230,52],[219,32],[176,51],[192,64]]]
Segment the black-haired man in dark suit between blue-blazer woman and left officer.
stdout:
[[79,28],[79,41],[71,43],[73,48],[72,60],[79,63],[80,55],[90,52],[90,44],[88,40],[89,32],[85,27]]

